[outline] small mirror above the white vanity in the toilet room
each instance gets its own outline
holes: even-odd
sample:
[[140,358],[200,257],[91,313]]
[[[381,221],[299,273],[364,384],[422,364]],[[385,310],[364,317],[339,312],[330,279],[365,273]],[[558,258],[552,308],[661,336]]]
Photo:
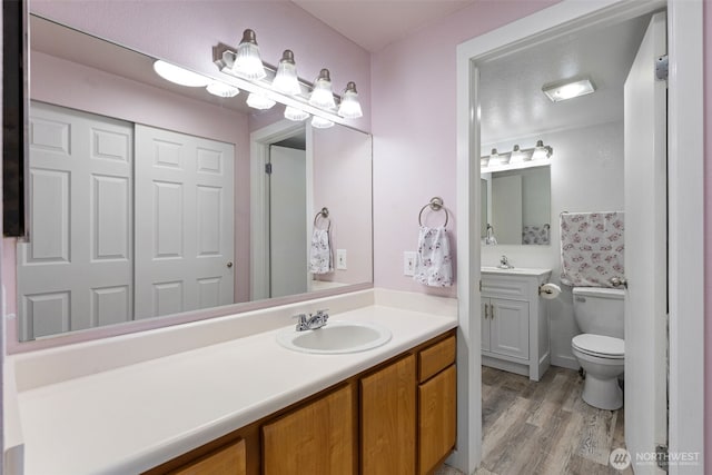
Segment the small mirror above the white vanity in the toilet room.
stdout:
[[483,245],[551,244],[551,167],[486,172],[481,178]]

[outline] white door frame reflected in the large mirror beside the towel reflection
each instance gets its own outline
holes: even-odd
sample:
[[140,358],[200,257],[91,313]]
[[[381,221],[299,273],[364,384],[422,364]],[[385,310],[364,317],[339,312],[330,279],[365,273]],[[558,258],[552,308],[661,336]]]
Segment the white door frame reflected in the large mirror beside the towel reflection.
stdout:
[[[306,133],[306,187],[307,209],[314,209],[313,182],[314,147],[312,126],[283,119],[249,136],[249,271],[250,301],[269,297],[269,188],[265,179],[265,166],[269,161],[269,146],[295,136]],[[307,227],[308,229],[308,227]]]

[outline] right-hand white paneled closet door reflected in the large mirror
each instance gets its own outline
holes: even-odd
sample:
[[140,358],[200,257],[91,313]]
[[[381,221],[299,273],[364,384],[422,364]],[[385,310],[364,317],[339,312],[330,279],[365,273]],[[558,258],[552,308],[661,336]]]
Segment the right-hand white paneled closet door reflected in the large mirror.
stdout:
[[136,126],[136,316],[233,304],[234,146]]

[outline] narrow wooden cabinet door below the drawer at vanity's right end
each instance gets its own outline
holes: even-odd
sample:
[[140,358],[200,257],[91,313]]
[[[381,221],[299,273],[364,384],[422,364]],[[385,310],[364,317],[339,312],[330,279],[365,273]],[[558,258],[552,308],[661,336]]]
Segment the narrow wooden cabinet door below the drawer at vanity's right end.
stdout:
[[418,388],[418,473],[427,474],[455,447],[457,437],[455,365]]

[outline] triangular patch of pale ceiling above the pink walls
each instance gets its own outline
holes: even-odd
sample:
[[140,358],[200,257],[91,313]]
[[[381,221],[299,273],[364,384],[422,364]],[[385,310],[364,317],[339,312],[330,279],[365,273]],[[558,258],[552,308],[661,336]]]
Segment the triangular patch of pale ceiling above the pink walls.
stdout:
[[291,0],[367,51],[378,52],[475,0]]

